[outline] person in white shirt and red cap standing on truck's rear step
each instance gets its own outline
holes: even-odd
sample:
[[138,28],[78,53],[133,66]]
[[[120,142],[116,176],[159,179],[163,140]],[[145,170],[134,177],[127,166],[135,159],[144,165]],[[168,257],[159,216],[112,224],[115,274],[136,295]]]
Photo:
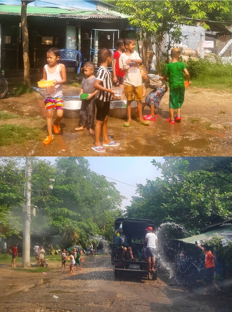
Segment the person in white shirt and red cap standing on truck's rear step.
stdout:
[[145,242],[147,242],[146,255],[147,255],[147,269],[148,271],[155,271],[155,253],[158,243],[157,236],[155,233],[152,233],[153,228],[148,227],[145,229],[147,231]]

